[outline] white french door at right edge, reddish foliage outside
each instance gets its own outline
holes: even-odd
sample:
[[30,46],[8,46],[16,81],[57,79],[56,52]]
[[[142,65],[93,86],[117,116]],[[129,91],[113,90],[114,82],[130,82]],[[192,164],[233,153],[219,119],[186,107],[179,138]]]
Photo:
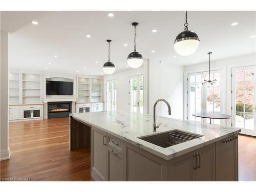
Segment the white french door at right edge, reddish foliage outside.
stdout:
[[232,69],[232,126],[256,136],[255,66]]

